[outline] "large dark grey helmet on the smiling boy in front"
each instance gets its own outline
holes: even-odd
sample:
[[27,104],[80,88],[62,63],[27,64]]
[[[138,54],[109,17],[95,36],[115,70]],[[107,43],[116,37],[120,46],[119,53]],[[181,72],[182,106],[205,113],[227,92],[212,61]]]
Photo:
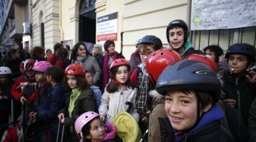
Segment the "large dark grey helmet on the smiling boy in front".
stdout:
[[168,65],[156,83],[156,91],[165,95],[171,90],[200,90],[212,92],[213,103],[218,102],[221,83],[216,73],[207,65],[194,61],[183,60]]

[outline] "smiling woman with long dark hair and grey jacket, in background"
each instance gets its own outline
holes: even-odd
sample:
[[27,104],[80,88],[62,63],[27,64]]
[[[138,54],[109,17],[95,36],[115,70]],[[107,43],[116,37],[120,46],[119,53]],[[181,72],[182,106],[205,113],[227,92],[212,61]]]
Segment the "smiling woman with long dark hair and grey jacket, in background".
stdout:
[[85,69],[87,72],[92,73],[93,84],[96,85],[98,83],[98,80],[100,80],[100,65],[96,61],[95,57],[89,55],[89,52],[82,41],[75,44],[72,50],[72,58],[72,64],[80,64],[83,66],[83,69]]

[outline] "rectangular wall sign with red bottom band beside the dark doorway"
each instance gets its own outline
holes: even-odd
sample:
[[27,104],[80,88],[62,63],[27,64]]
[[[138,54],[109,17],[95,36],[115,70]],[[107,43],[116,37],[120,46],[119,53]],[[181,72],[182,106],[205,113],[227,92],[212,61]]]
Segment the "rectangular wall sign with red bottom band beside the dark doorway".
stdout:
[[97,41],[117,40],[117,12],[98,17]]

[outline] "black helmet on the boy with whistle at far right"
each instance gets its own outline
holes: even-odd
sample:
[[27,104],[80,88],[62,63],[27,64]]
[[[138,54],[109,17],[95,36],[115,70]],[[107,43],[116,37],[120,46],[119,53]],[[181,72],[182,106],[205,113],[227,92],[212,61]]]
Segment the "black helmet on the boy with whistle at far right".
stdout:
[[236,43],[229,46],[228,51],[226,52],[225,58],[228,59],[230,54],[239,53],[244,54],[245,56],[250,56],[255,61],[256,49],[254,46],[247,43]]

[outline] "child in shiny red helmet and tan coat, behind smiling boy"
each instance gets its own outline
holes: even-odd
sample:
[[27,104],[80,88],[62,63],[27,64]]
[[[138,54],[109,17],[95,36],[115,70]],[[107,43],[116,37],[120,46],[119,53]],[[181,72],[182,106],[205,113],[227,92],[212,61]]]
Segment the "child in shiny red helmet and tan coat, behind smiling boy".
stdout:
[[[160,49],[148,56],[146,68],[150,77],[150,81],[154,86],[156,85],[156,81],[158,80],[159,75],[161,72],[163,72],[165,67],[177,61],[181,61],[181,57],[179,54],[177,54],[176,51],[171,49]],[[167,117],[163,109],[164,97],[157,93],[155,90],[151,90],[148,92],[148,94],[150,98],[152,98],[152,108],[148,125],[148,141],[159,141],[161,140],[161,135],[158,118]]]

